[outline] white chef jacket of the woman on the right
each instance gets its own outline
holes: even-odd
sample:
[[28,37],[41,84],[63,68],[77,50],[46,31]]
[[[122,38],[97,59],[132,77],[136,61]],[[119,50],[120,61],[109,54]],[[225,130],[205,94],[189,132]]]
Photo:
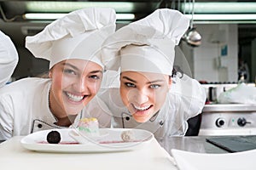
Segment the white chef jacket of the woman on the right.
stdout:
[[195,79],[183,75],[183,78],[175,77],[172,80],[172,88],[160,111],[143,123],[136,122],[126,109],[120,98],[119,88],[102,89],[99,95],[113,114],[112,126],[146,129],[154,133],[157,139],[166,135],[185,135],[188,119],[201,113],[207,96],[205,89]]

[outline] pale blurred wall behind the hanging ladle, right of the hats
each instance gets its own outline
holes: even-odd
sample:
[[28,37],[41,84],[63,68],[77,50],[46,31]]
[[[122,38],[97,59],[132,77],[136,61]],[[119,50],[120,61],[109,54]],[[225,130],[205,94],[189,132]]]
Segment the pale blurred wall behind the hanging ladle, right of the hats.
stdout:
[[[201,46],[183,45],[193,77],[207,82],[236,82],[238,65],[237,25],[198,25],[202,35]],[[221,56],[221,47],[227,46],[227,55]],[[192,54],[189,53],[192,51]]]

